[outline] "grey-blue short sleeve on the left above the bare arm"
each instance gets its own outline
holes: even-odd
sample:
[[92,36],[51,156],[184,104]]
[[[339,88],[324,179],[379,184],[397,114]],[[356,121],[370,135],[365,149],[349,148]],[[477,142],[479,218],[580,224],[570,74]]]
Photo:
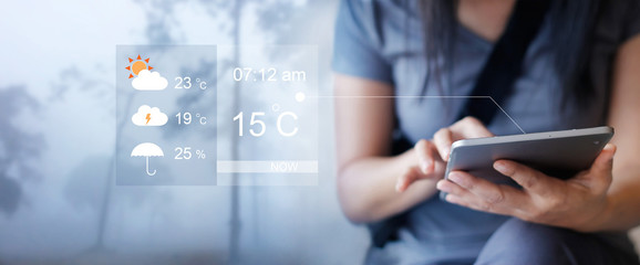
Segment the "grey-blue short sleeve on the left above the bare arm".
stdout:
[[374,1],[342,0],[336,21],[333,71],[393,84],[391,64],[376,34]]

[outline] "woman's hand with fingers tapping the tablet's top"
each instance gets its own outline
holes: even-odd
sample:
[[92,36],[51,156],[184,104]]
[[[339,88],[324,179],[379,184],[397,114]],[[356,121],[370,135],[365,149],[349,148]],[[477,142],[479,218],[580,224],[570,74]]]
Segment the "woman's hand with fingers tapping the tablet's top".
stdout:
[[395,190],[405,191],[412,183],[422,179],[442,179],[454,141],[491,136],[493,134],[479,120],[466,117],[447,128],[440,129],[433,136],[433,140],[417,141],[414,146],[415,163],[398,179]]

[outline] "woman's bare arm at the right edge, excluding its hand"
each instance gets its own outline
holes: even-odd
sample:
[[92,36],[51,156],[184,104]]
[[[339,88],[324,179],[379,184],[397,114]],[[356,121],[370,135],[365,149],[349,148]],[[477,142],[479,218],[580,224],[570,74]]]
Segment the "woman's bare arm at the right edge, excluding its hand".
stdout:
[[609,206],[598,229],[628,230],[640,224],[640,36],[620,47],[612,87],[609,125],[616,128],[618,151]]

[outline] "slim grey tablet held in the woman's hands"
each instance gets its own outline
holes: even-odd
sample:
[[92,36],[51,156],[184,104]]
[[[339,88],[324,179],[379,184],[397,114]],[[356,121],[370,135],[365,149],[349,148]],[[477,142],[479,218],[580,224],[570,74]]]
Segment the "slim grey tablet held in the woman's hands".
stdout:
[[[452,145],[445,178],[454,170],[466,171],[494,183],[519,186],[493,168],[499,159],[527,165],[560,179],[589,169],[613,137],[608,126],[548,132],[457,140]],[[441,198],[446,194],[441,192]]]

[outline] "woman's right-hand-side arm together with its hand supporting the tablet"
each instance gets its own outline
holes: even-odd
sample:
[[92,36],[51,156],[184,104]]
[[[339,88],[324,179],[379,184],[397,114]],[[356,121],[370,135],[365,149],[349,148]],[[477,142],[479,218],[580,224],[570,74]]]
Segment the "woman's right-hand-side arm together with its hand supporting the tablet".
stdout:
[[448,192],[447,201],[456,204],[582,232],[626,231],[640,224],[640,36],[620,47],[612,87],[613,145],[605,147],[590,169],[562,181],[498,160],[494,168],[522,190],[462,171],[451,172],[437,189]]

